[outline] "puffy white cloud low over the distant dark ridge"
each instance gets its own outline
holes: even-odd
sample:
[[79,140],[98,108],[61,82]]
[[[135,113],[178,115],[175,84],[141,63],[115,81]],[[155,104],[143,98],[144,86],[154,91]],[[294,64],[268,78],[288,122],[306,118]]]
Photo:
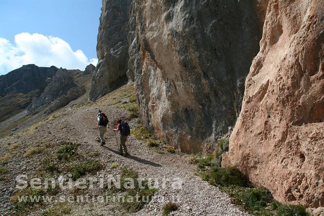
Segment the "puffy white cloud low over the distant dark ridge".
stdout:
[[59,37],[20,33],[15,36],[15,44],[0,37],[0,74],[27,64],[84,70],[90,63],[95,66],[97,62],[97,58],[89,59],[81,50],[73,51]]

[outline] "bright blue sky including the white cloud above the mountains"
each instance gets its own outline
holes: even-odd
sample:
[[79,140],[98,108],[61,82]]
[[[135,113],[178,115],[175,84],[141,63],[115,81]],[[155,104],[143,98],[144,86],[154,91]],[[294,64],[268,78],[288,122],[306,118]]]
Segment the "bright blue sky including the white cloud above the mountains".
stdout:
[[100,8],[101,0],[0,0],[0,74],[95,64]]

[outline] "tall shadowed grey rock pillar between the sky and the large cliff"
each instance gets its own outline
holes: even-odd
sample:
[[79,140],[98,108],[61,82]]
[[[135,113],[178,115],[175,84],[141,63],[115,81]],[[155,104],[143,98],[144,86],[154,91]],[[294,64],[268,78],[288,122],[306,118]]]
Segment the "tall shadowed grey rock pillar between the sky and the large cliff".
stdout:
[[97,37],[98,64],[90,99],[105,95],[127,81],[129,5],[131,0],[102,0]]

